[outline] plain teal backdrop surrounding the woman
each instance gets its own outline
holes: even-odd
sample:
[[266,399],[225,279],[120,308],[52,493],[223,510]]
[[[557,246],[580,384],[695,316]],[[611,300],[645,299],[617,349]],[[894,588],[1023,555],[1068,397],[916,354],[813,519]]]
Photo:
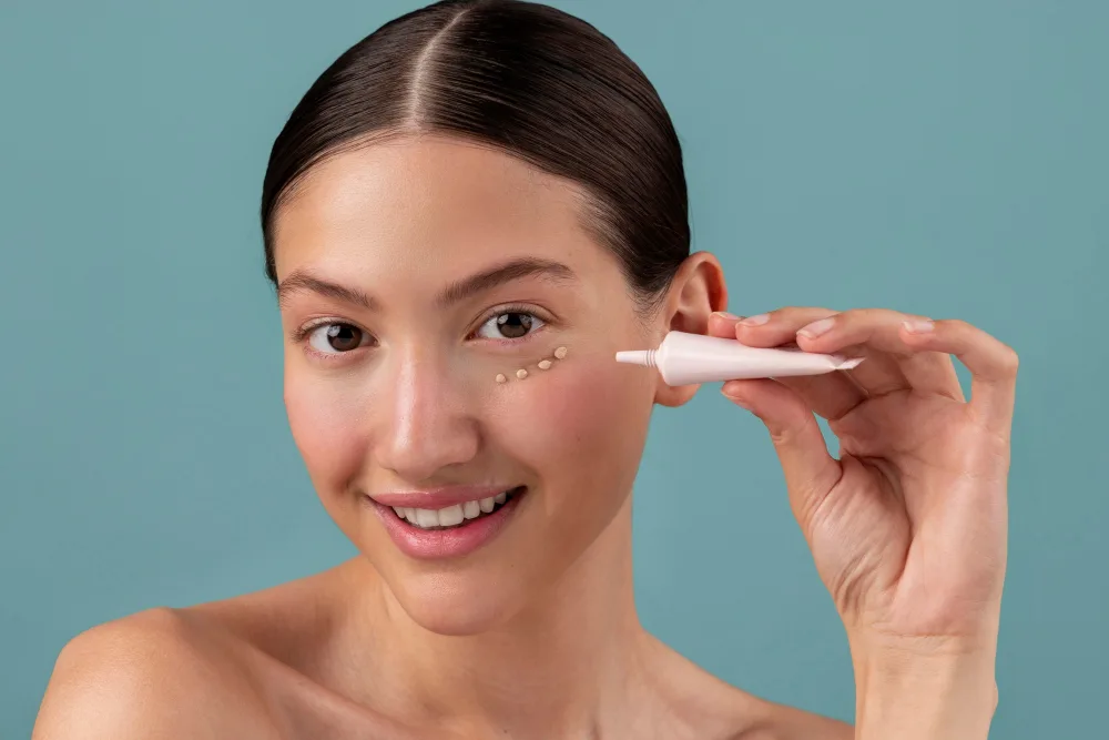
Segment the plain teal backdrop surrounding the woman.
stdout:
[[[659,88],[732,308],[888,306],[1022,356],[995,738],[1096,737],[1109,690],[1109,3],[556,3]],[[256,211],[273,138],[414,2],[0,9],[0,738],[79,631],[352,554],[281,393]],[[766,435],[703,393],[637,493],[647,625],[849,719],[842,627]]]

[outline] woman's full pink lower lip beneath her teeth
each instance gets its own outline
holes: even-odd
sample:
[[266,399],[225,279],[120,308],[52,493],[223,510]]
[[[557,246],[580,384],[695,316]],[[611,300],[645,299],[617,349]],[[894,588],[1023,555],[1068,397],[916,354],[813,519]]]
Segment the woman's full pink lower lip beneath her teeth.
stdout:
[[384,506],[368,497],[366,500],[374,505],[386,531],[401,553],[420,560],[438,560],[469,555],[489,543],[505,527],[527,493],[522,490],[513,495],[492,514],[450,529],[420,529],[398,517],[391,506]]

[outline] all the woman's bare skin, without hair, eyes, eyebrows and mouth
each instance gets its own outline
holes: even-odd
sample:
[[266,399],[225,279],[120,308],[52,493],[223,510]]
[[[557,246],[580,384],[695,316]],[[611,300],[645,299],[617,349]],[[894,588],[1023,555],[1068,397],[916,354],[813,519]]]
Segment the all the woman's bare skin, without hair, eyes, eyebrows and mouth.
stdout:
[[[277,220],[285,403],[319,498],[360,556],[79,636],[34,737],[985,738],[1015,355],[958,322],[910,332],[917,317],[891,311],[739,323],[721,313],[723,276],[703,253],[644,315],[583,223],[582,196],[502,152],[429,135],[317,165]],[[439,300],[521,259],[568,270]],[[506,307],[543,325],[511,341],[482,330]],[[825,318],[825,333],[803,332]],[[319,332],[314,344],[297,330],[319,321],[358,327],[366,344],[317,354]],[[867,356],[849,375],[723,386],[765,422],[843,617],[854,729],[726,686],[639,624],[631,485],[652,407],[696,388],[612,354],[672,328]],[[558,346],[564,361],[515,378]],[[975,374],[970,403],[948,353]],[[814,412],[840,435],[840,460]],[[363,499],[462,484],[528,493],[492,541],[449,561],[404,555]]]

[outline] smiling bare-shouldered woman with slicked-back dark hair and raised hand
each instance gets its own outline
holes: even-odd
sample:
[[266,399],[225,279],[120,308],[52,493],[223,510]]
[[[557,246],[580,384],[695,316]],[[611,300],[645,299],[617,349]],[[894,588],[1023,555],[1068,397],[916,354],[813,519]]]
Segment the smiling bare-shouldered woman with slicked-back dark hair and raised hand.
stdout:
[[[343,54],[274,144],[262,222],[289,424],[360,557],[78,637],[35,737],[985,738],[1014,353],[893,311],[740,321],[686,211],[653,88],[577,19],[446,2]],[[843,618],[854,729],[638,621],[632,483],[654,404],[695,388],[613,354],[670,330],[867,357],[723,386]]]

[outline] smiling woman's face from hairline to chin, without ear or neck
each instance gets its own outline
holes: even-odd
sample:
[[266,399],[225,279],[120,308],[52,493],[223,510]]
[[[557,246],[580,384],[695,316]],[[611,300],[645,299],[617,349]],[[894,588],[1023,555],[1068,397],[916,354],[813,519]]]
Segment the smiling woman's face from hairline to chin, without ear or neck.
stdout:
[[[624,504],[658,385],[613,361],[661,334],[580,192],[492,149],[397,139],[316,165],[274,243],[285,404],[327,511],[426,628],[519,611]],[[438,528],[451,506],[461,525]]]

